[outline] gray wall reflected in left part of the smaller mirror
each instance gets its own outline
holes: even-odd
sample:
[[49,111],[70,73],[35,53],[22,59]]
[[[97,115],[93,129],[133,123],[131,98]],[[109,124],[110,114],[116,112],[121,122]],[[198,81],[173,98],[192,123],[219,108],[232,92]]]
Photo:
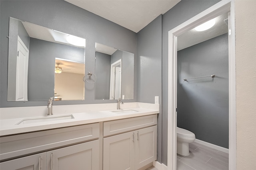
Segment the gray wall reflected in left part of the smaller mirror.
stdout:
[[97,81],[95,82],[96,99],[109,99],[111,55],[95,52]]

